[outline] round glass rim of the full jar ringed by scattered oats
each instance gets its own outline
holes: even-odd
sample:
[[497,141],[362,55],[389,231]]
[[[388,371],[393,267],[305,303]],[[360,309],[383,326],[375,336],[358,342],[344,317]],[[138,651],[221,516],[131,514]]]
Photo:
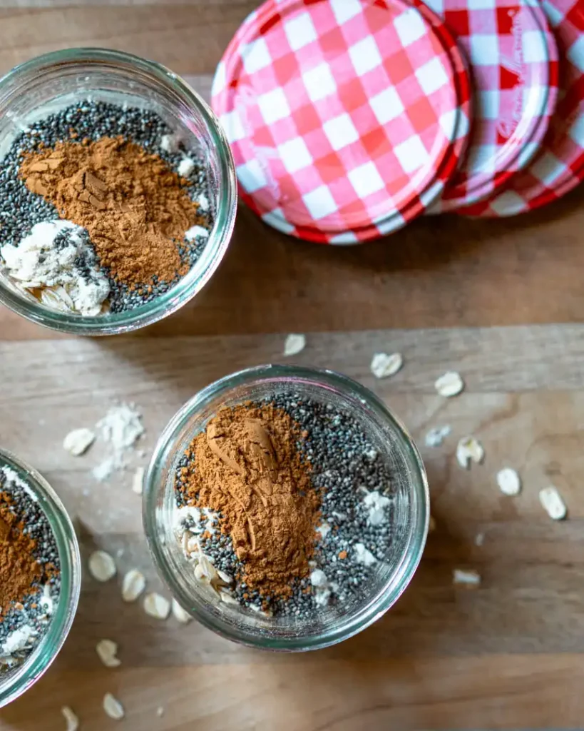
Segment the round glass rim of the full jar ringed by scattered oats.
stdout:
[[[300,388],[303,384],[310,385],[310,387],[323,387],[326,390],[337,390],[337,393],[343,397],[350,397],[352,407],[361,409],[361,413],[364,415],[375,414],[376,418],[383,420],[385,425],[391,428],[393,436],[399,440],[400,446],[404,448],[409,460],[408,482],[412,488],[412,530],[399,564],[393,574],[384,581],[383,590],[374,595],[364,607],[361,607],[356,613],[343,617],[338,626],[311,637],[300,635],[273,638],[247,631],[242,624],[234,627],[207,611],[204,602],[197,602],[192,596],[187,596],[166,560],[164,554],[166,537],[161,534],[155,516],[157,492],[158,490],[166,491],[168,485],[168,480],[162,478],[163,464],[169,458],[172,460],[173,454],[176,455],[177,438],[189,420],[200,412],[205,404],[211,404],[222,394],[232,393],[239,386],[269,382],[290,383],[292,386]],[[192,428],[191,433],[193,433]],[[145,534],[155,567],[166,586],[185,608],[192,607],[195,602],[196,609],[191,609],[190,613],[208,629],[212,629],[229,640],[254,648],[276,651],[315,650],[337,644],[366,629],[399,599],[410,583],[420,562],[429,529],[430,498],[426,470],[418,448],[399,417],[396,417],[391,409],[388,409],[383,401],[368,388],[336,371],[319,368],[274,364],[255,366],[237,371],[208,385],[187,401],[164,428],[147,467],[144,484],[142,520]]]

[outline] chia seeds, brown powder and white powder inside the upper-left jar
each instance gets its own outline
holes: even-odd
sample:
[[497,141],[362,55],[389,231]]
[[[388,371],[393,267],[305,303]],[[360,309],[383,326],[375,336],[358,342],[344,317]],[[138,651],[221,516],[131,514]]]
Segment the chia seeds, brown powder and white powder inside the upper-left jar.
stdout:
[[80,102],[12,143],[0,265],[48,307],[131,310],[167,292],[212,227],[204,166],[152,111]]

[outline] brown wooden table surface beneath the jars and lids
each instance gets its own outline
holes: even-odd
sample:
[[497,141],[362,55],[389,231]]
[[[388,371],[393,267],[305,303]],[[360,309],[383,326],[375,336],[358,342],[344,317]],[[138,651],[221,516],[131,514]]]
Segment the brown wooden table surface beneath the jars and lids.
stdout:
[[[249,0],[2,0],[0,70],[70,45],[101,45],[162,61],[208,96]],[[419,221],[391,238],[326,248],[277,235],[245,210],[215,278],[176,316],[136,336],[57,338],[0,312],[0,443],[42,471],[74,517],[86,560],[95,546],[120,572],[155,577],[131,470],[99,484],[61,449],[116,399],[144,414],[146,451],[174,411],[218,376],[280,360],[285,333],[307,333],[299,363],[337,368],[374,388],[422,447],[431,534],[412,585],[372,628],[301,656],[221,640],[196,623],[155,621],[123,605],[119,579],[85,577],[64,650],[26,697],[0,711],[1,731],[59,731],[61,705],[82,731],[116,727],[105,692],[137,731],[402,731],[566,728],[584,718],[584,188],[510,221]],[[558,324],[561,323],[561,324]],[[374,382],[376,350],[403,370]],[[434,379],[454,368],[466,390],[446,401]],[[483,442],[482,466],[456,464],[456,441]],[[136,455],[134,463],[147,457]],[[523,493],[499,493],[512,466]],[[539,506],[554,484],[569,518]],[[483,534],[483,545],[475,545]],[[455,567],[483,577],[454,587]],[[101,667],[96,641],[116,640],[122,665]],[[158,716],[157,708],[164,708]]]

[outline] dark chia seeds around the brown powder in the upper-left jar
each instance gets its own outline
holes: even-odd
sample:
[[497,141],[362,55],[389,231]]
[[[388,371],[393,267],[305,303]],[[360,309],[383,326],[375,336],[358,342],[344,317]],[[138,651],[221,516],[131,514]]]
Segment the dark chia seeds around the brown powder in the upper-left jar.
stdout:
[[[125,140],[140,145],[147,152],[160,156],[174,171],[177,171],[180,162],[188,156],[195,163],[192,172],[186,176],[190,183],[188,194],[191,200],[201,202],[199,211],[205,219],[203,228],[211,230],[212,195],[206,167],[200,156],[193,151],[185,150],[181,143],[169,149],[168,145],[164,144],[164,138],[173,137],[173,131],[151,110],[85,99],[32,124],[15,137],[2,159],[0,163],[2,245],[10,243],[18,246],[20,240],[30,234],[34,224],[53,221],[60,217],[54,205],[28,190],[24,181],[20,179],[18,170],[23,154],[39,151],[42,145],[45,148],[53,148],[58,142],[70,143],[72,135],[76,135],[77,140],[88,138],[92,142],[101,137],[121,135]],[[197,236],[190,241],[185,238],[179,246],[183,262],[192,267],[201,256],[206,243],[205,236]],[[102,270],[110,281],[108,301],[111,312],[123,312],[140,307],[163,295],[180,279],[180,276],[172,281],[154,279],[152,282],[144,282],[143,287],[128,289],[126,284],[110,276],[107,268]]]

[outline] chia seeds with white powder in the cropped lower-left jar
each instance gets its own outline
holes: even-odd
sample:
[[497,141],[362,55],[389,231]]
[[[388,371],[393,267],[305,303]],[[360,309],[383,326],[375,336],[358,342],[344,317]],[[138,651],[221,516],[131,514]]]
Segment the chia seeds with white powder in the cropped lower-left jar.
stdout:
[[[0,493],[11,499],[10,510],[36,542],[34,558],[42,567],[39,581],[21,602],[0,614],[0,677],[22,664],[47,634],[61,592],[60,561],[55,536],[34,493],[7,466],[0,466]],[[50,572],[45,567],[52,564]]]

